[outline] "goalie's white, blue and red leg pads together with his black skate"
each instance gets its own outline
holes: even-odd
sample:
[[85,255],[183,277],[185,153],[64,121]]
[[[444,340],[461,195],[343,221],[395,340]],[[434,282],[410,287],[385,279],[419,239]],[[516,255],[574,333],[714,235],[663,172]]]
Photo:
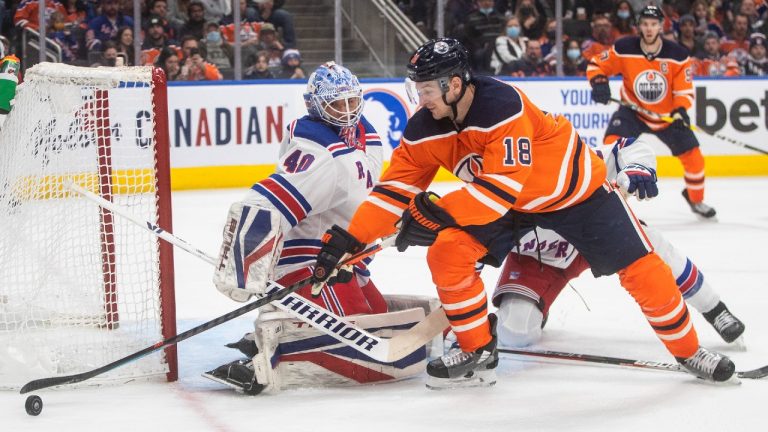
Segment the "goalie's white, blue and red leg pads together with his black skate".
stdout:
[[[391,338],[439,307],[434,298],[386,296],[395,312],[348,317],[358,327]],[[204,377],[246,394],[291,388],[343,387],[399,381],[422,373],[431,353],[442,353],[442,334],[427,346],[391,363],[376,361],[281,311],[262,313],[255,332],[227,345],[252,358],[206,372]],[[255,353],[255,354],[254,354]]]

